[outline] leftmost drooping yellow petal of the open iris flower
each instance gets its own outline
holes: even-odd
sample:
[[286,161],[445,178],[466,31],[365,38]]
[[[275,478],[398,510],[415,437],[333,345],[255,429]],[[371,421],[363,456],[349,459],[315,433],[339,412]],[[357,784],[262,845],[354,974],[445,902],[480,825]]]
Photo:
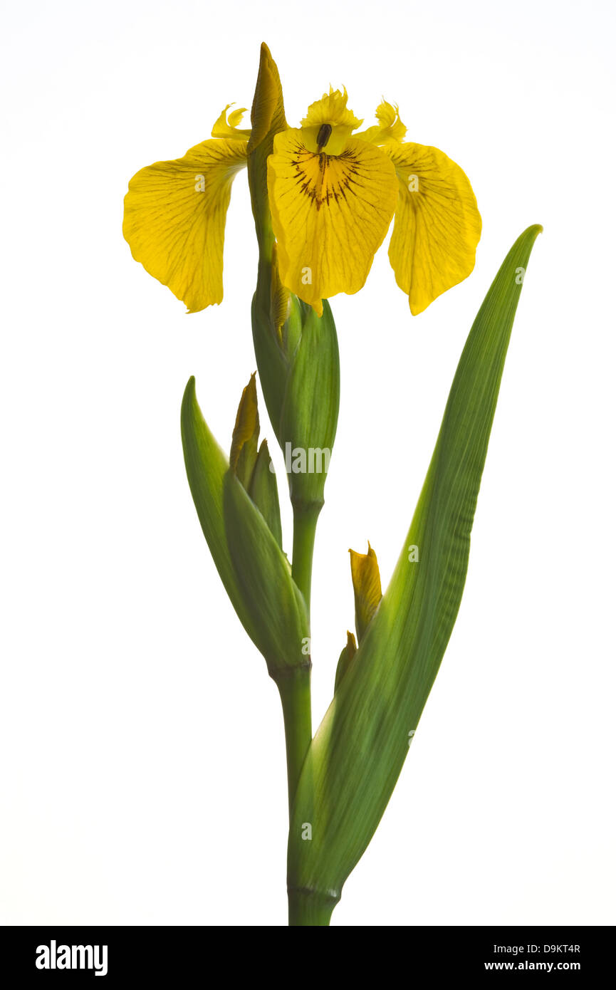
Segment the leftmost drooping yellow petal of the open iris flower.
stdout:
[[156,161],[129,182],[124,237],[133,257],[190,313],[223,298],[223,242],[231,184],[246,141],[204,141]]

